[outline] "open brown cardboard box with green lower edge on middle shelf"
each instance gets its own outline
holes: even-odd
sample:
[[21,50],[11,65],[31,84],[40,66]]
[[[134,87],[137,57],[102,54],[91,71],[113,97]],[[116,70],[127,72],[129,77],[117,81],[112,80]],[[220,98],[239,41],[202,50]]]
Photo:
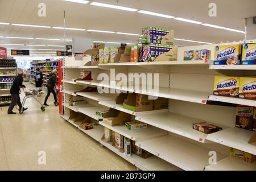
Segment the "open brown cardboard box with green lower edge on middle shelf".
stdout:
[[134,112],[153,110],[153,100],[148,100],[148,96],[143,94],[130,93],[123,102],[123,108]]

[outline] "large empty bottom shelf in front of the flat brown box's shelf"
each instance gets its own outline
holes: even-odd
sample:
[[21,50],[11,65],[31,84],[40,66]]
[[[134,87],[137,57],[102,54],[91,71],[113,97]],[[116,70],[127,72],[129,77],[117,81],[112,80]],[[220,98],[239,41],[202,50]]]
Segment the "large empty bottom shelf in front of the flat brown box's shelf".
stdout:
[[[186,171],[203,171],[206,166],[209,166],[210,150],[208,148],[171,135],[138,140],[135,144]],[[217,161],[224,158],[224,155],[217,154]]]

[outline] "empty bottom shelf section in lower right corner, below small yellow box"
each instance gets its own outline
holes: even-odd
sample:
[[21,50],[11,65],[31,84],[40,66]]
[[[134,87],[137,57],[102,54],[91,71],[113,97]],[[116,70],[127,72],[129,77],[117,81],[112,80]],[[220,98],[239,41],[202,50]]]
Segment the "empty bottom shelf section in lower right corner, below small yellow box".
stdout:
[[256,171],[256,162],[247,163],[241,159],[229,156],[219,160],[217,164],[205,167],[205,171]]

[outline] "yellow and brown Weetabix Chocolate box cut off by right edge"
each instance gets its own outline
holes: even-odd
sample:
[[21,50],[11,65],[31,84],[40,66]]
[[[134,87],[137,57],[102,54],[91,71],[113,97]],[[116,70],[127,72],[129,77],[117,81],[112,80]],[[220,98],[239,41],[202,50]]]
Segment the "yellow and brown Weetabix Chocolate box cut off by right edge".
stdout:
[[256,77],[241,77],[239,97],[256,100]]

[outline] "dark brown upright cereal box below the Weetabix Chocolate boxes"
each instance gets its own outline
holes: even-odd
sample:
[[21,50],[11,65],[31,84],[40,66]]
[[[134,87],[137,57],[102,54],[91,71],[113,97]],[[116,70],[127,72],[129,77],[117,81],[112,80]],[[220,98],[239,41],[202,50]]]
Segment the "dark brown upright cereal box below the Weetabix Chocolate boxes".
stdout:
[[253,107],[237,105],[236,127],[253,130]]

